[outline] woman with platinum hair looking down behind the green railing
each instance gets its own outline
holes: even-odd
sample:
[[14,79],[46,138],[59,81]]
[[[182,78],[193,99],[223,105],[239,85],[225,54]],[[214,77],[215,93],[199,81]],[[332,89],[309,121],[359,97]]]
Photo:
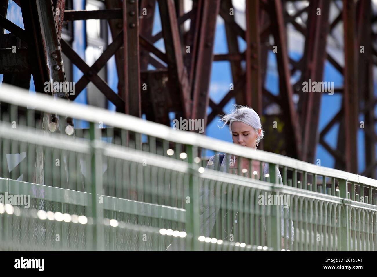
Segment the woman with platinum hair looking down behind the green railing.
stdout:
[[[261,119],[259,118],[258,114],[249,107],[243,107],[243,106],[235,106],[235,109],[231,111],[231,113],[222,116],[222,121],[224,121],[224,125],[222,125],[223,128],[225,125],[229,124],[229,130],[233,139],[233,143],[242,145],[244,147],[250,147],[256,149],[259,142],[264,137],[264,133],[261,126]],[[254,161],[253,163],[253,170],[252,171],[259,171],[259,162]],[[219,170],[224,172],[230,172],[230,173],[236,173],[238,171],[239,167],[239,161],[234,158],[233,155],[229,154],[216,154],[212,156],[207,164],[207,168],[210,168],[212,170]],[[246,159],[242,159],[242,168],[249,168],[248,161]],[[268,163],[265,163],[264,165],[264,174],[267,174],[269,172],[269,166]],[[247,172],[245,175],[251,177],[251,172]],[[281,185],[283,185],[282,177],[280,175],[279,170],[277,171],[277,174],[279,176],[279,182]],[[265,177],[264,177],[265,179]],[[266,181],[266,180],[265,180]],[[200,204],[200,233],[202,236],[209,237],[210,233],[213,229],[213,226],[215,225],[216,217],[218,215],[219,207],[210,207],[208,204],[208,201],[205,199],[212,198],[214,199],[214,191],[208,189],[208,187],[200,187],[199,190],[199,204]],[[203,201],[205,200],[205,201]],[[212,201],[211,201],[212,202]],[[213,202],[212,202],[213,203]],[[233,205],[233,202],[231,206]],[[238,205],[237,205],[238,206]],[[288,220],[285,223],[284,226],[284,206],[280,205],[281,209],[281,237],[282,237],[282,248],[285,248],[284,238],[287,238],[288,241],[293,242],[294,239],[294,228],[293,228],[293,221]],[[228,212],[232,211],[232,207],[228,209]],[[262,214],[264,213],[264,206],[262,206]],[[287,213],[289,214],[289,211],[287,210]],[[239,219],[237,218],[238,212],[236,213],[236,217],[234,219],[234,222],[238,222]],[[226,216],[226,214],[225,214]],[[232,218],[233,220],[233,218]],[[264,229],[267,232],[268,226],[266,226],[265,217],[261,216],[261,221],[264,225]],[[234,224],[233,224],[234,226]],[[228,237],[221,238],[221,239],[228,239],[232,230],[233,226],[230,230],[225,230],[225,233],[228,234]],[[285,230],[289,230],[288,234],[285,236]],[[217,238],[220,239],[220,238]],[[167,251],[174,251],[174,250],[184,250],[184,245],[180,246],[173,246],[174,243],[172,243],[168,248]],[[287,245],[287,248],[289,245]]]

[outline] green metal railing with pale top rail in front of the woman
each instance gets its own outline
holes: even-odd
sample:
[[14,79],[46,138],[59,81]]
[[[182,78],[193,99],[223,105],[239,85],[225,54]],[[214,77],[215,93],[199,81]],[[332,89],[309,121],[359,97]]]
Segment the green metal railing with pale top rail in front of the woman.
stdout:
[[0,249],[377,249],[377,180],[5,84],[0,103],[0,196],[30,196],[0,204]]

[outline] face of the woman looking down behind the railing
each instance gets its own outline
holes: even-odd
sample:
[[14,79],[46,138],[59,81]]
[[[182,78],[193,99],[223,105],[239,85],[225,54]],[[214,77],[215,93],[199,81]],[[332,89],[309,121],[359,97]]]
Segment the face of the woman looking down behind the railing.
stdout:
[[[258,130],[260,135],[261,129]],[[241,121],[232,123],[233,143],[251,148],[256,148],[257,132],[253,127]]]

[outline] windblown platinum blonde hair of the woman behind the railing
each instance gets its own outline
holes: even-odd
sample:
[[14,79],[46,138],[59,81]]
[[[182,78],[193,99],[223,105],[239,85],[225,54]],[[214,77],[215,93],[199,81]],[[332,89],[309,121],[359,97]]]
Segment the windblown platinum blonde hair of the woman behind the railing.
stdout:
[[[250,107],[244,107],[241,105],[235,105],[230,113],[221,116],[221,121],[224,122],[224,125],[222,125],[220,128],[229,123],[230,133],[232,133],[231,127],[234,121],[244,122],[245,124],[253,127],[256,133],[258,133],[259,129],[262,130],[261,119],[259,118],[259,115],[256,113],[256,111],[254,111]],[[259,144],[263,137],[264,133],[262,130],[261,135],[257,136],[257,144]]]

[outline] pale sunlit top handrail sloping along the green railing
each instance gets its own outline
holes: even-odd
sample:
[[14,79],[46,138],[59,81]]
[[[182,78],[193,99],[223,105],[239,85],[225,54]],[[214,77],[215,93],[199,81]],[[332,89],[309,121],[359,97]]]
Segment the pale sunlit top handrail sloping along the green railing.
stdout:
[[66,115],[72,118],[82,119],[89,122],[102,121],[106,125],[155,136],[157,138],[162,138],[181,144],[196,145],[198,147],[219,152],[223,152],[224,149],[226,149],[227,153],[242,156],[245,158],[256,159],[264,162],[278,164],[280,166],[296,168],[300,171],[307,171],[314,174],[345,179],[350,182],[362,183],[377,187],[377,180],[367,178],[365,176],[360,176],[358,174],[317,166],[308,162],[299,161],[297,159],[288,158],[262,150],[251,148],[245,149],[245,147],[235,145],[230,142],[221,141],[215,138],[209,138],[208,136],[200,135],[194,132],[174,130],[166,125],[149,122],[141,118],[136,118],[134,116],[117,112],[109,112],[101,108],[91,107],[83,104],[68,103],[66,100],[52,98],[51,96],[39,93],[32,94],[29,93],[28,90],[21,89],[20,87],[9,86],[7,84],[2,84],[1,86],[0,101],[5,101],[6,103],[14,104],[17,106],[33,107],[44,112]]

